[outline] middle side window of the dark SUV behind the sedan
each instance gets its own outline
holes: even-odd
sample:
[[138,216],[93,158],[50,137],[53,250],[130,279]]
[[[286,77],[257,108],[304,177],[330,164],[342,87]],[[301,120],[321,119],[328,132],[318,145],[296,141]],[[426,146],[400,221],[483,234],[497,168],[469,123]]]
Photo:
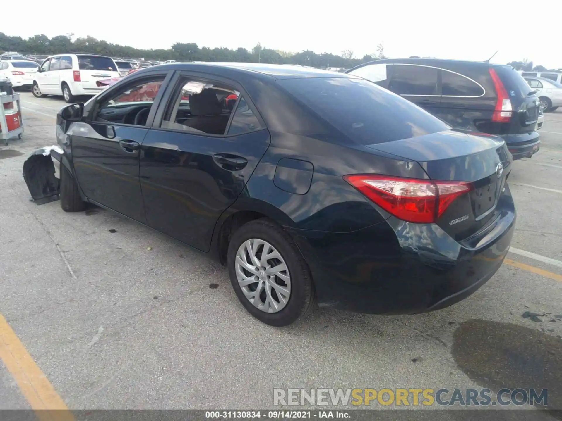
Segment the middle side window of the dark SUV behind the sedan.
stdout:
[[388,89],[400,95],[437,95],[437,72],[434,67],[394,65]]

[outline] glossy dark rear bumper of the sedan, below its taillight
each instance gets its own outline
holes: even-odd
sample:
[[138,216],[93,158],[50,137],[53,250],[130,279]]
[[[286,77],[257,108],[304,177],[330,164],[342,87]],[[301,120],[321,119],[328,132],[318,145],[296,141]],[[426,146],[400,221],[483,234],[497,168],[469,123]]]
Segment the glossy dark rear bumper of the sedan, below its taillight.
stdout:
[[[488,281],[504,261],[515,227],[513,199],[479,247],[461,244],[437,225],[391,217],[359,231],[289,230],[312,272],[320,306],[370,314],[445,308]],[[499,205],[499,204],[498,204]],[[474,244],[474,242],[472,243]]]

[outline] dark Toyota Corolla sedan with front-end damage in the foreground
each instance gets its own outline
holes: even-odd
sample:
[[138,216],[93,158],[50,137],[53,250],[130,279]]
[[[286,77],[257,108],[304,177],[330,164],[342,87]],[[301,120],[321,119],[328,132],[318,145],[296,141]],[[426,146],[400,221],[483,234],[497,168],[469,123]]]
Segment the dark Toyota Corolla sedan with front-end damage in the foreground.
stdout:
[[93,203],[215,256],[274,326],[316,302],[454,304],[501,266],[515,226],[502,139],[352,75],[146,68],[63,108],[57,139],[62,209]]

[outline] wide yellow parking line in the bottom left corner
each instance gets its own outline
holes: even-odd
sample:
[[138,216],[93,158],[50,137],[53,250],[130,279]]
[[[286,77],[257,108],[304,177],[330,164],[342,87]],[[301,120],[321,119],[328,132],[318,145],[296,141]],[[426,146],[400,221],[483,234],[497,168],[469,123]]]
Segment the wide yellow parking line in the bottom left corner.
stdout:
[[[74,421],[65,402],[0,314],[0,359],[40,421]],[[56,410],[56,411],[53,411]]]

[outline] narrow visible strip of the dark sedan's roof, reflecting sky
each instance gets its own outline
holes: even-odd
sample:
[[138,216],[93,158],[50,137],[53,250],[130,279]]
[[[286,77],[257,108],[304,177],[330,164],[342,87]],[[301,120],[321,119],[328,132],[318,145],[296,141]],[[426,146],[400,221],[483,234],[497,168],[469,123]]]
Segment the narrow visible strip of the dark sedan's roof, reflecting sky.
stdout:
[[[274,79],[297,79],[301,77],[344,77],[350,78],[352,75],[321,70],[315,67],[300,65],[273,65],[265,63],[220,63],[220,62],[199,62],[199,63],[169,63],[157,68],[169,70],[192,70],[201,72],[212,72],[224,76],[235,74],[246,74],[254,76],[269,76]],[[139,73],[139,72],[137,72]]]

